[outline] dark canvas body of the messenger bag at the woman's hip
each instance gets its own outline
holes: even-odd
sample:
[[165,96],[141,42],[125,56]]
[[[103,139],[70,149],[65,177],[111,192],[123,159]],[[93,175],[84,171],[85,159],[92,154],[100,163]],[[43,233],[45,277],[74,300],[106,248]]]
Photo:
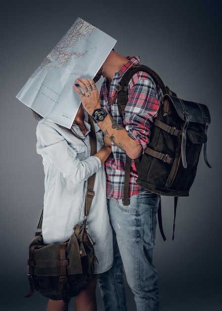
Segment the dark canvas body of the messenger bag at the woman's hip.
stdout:
[[[65,251],[64,259],[60,258],[61,245]],[[85,225],[76,225],[70,239],[61,244],[44,245],[42,235],[36,235],[29,246],[31,288],[53,300],[68,301],[78,295],[94,273],[96,256],[93,247]],[[61,273],[61,265],[66,270],[65,275]]]

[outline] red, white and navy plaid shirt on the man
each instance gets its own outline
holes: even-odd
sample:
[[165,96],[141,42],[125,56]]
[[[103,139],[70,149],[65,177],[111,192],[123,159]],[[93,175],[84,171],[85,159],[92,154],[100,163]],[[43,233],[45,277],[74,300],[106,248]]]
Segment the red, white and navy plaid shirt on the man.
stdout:
[[[129,62],[113,75],[110,91],[107,90],[107,78],[101,87],[100,99],[104,109],[121,126],[124,126],[128,135],[134,139],[143,150],[149,143],[150,130],[154,118],[157,116],[162,100],[162,91],[153,78],[142,71],[133,75],[128,84],[128,102],[125,107],[125,119],[122,120],[117,106],[117,99],[111,105],[115,95],[115,87],[123,74],[132,66],[140,64],[139,57],[127,57]],[[123,199],[125,160],[123,150],[112,144],[111,156],[106,161],[107,196],[114,199]],[[138,194],[142,188],[136,183],[137,171],[134,160],[131,160],[129,196]]]

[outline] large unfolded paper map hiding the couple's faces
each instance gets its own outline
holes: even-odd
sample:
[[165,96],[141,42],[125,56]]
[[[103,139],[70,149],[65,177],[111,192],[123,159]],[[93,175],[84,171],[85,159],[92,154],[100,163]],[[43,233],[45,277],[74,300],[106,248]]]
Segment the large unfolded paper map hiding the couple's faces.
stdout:
[[72,87],[75,79],[94,78],[115,43],[78,17],[16,97],[44,118],[70,128],[81,102]]

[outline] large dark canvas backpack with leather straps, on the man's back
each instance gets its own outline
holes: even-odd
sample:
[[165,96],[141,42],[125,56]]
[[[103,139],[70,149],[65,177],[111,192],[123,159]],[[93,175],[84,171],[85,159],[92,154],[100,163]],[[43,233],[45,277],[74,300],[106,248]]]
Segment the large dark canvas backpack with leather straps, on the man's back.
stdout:
[[[210,166],[206,156],[207,130],[211,122],[208,107],[192,101],[182,100],[165,86],[162,79],[152,69],[137,65],[123,75],[116,87],[119,112],[124,119],[124,108],[128,100],[128,83],[137,71],[147,72],[160,85],[164,97],[157,118],[151,129],[150,142],[142,156],[135,159],[138,172],[137,183],[154,193],[173,196],[174,224],[177,198],[188,196],[196,176],[197,165],[204,144],[204,159]],[[124,205],[128,205],[128,183],[131,159],[126,159]],[[159,208],[159,225],[164,240],[161,205]]]

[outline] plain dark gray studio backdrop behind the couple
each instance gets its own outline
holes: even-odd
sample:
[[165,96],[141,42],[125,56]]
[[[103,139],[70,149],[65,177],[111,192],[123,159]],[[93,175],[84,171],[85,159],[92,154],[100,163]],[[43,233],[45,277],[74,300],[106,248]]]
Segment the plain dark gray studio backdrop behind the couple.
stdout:
[[[28,244],[42,209],[44,172],[36,154],[37,121],[15,95],[80,16],[139,55],[181,98],[208,105],[208,168],[201,154],[190,196],[180,198],[171,240],[173,199],[163,197],[164,242],[157,230],[155,265],[161,311],[222,310],[221,16],[219,2],[4,1],[0,10],[0,286],[2,311],[45,310],[29,291]],[[74,81],[73,81],[74,82]],[[128,311],[135,304],[128,287]],[[98,310],[103,311],[99,290]],[[74,302],[70,306],[74,310]]]

